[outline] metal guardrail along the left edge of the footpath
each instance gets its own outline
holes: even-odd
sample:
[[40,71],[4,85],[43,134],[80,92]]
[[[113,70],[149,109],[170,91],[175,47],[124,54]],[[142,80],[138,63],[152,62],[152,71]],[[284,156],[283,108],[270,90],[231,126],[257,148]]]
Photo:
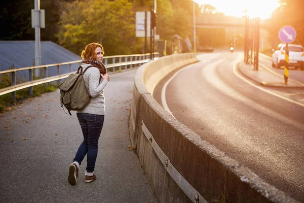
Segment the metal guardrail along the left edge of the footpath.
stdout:
[[[122,67],[124,69],[129,69],[134,67],[136,64],[142,64],[145,62],[150,61],[149,59],[150,54],[131,54],[131,55],[115,55],[115,56],[105,56],[103,57],[104,65],[107,69],[112,69],[112,72],[116,72],[116,67],[119,68],[119,70],[122,70]],[[156,52],[154,53],[155,57],[159,57],[159,53]],[[29,66],[29,67],[21,67],[20,69],[10,69],[6,71],[0,71],[0,74],[11,74],[11,86],[10,87],[5,87],[0,89],[0,96],[11,93],[12,92],[12,97],[15,100],[16,99],[16,91],[20,89],[24,89],[29,87],[29,95],[32,95],[32,86],[35,85],[40,85],[48,82],[53,82],[57,81],[58,87],[60,86],[60,80],[67,78],[70,74],[75,73],[72,71],[72,64],[77,64],[81,63],[82,60],[75,60],[75,61],[69,61],[69,62],[64,62],[64,63],[54,63],[54,64],[47,64],[47,65],[37,65],[37,66]],[[69,65],[69,73],[66,74],[61,74],[61,66],[62,65]],[[50,67],[57,66],[57,75],[48,77],[48,69]],[[33,80],[33,70],[35,69],[43,69],[43,75],[44,78],[42,79],[37,79]],[[26,71],[28,70],[28,76],[29,76],[29,81],[16,84],[16,73],[20,71]]]

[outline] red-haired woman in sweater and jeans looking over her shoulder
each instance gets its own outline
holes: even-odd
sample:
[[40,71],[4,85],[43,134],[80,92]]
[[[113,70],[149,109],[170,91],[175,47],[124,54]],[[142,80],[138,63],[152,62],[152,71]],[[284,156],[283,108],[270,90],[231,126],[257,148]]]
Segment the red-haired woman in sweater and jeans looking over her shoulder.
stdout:
[[102,63],[103,47],[98,43],[91,43],[82,51],[83,70],[90,67],[83,75],[86,88],[91,96],[90,103],[82,110],[77,111],[77,118],[81,126],[84,140],[69,166],[68,182],[71,185],[77,183],[79,166],[87,155],[87,167],[85,182],[91,183],[96,180],[94,174],[95,162],[98,153],[98,140],[102,130],[105,106],[103,90],[108,84],[110,77],[106,74],[105,66]]

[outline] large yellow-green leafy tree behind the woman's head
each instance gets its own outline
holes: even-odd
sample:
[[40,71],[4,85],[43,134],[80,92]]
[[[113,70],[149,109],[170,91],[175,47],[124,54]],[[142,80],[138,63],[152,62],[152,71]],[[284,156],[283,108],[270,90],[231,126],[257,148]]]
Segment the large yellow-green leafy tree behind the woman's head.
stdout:
[[91,42],[101,43],[106,55],[141,51],[132,4],[127,0],[66,3],[59,25],[59,44],[77,54]]

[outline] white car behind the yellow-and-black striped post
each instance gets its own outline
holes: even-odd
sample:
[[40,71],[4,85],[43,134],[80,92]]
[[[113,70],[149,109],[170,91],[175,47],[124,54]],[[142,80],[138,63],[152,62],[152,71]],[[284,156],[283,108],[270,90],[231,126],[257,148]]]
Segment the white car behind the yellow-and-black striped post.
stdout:
[[[285,63],[286,44],[279,44],[272,54],[272,66],[279,69]],[[288,44],[289,66],[304,70],[304,48],[301,45]]]

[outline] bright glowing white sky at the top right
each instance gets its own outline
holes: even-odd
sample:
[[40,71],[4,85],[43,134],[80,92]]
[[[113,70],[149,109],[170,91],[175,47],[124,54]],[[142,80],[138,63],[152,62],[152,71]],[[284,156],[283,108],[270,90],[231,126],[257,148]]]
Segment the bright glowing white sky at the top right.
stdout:
[[195,0],[199,5],[210,4],[226,16],[244,16],[244,10],[259,16],[261,19],[270,18],[272,12],[280,6],[279,0]]

